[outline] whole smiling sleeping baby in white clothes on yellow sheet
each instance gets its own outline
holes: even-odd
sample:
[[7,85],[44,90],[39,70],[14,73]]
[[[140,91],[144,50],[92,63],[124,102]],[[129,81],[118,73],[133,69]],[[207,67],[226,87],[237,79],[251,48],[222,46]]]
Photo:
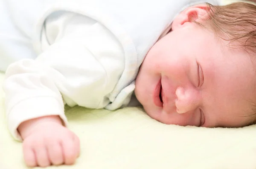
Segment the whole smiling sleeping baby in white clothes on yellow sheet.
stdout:
[[165,124],[254,122],[252,4],[0,3],[6,116],[13,137],[23,141],[28,166],[69,165],[79,156],[79,138],[67,128],[64,104],[115,110],[127,106],[134,92],[145,112]]

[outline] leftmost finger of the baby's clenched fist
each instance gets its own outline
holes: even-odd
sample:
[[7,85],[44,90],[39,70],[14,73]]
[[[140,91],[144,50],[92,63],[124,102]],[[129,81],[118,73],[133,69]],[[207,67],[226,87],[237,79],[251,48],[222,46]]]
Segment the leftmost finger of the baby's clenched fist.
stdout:
[[29,167],[37,166],[35,153],[29,144],[23,143],[23,157],[27,166]]

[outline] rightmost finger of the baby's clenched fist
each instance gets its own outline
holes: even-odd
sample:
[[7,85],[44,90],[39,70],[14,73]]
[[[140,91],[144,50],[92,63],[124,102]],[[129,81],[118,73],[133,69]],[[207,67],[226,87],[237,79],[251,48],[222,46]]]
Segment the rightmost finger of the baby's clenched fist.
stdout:
[[62,149],[64,152],[65,164],[71,165],[76,161],[77,151],[73,139],[67,139],[62,141]]

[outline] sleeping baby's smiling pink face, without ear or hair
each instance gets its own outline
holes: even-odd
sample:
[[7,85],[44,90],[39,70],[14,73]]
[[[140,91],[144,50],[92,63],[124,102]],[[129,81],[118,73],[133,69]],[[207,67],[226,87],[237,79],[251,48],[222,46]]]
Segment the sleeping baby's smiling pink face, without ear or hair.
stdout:
[[165,124],[240,127],[255,98],[253,59],[195,23],[185,23],[148,52],[135,94]]

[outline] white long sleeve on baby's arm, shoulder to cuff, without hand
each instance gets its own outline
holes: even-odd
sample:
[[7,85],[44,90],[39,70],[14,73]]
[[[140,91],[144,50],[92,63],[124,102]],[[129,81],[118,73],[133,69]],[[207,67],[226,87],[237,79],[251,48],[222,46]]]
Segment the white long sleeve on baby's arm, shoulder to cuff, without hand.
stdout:
[[122,46],[113,34],[78,14],[48,18],[41,43],[37,59],[13,63],[6,71],[7,123],[17,140],[17,127],[28,119],[59,115],[67,125],[64,101],[105,107],[124,69]]

